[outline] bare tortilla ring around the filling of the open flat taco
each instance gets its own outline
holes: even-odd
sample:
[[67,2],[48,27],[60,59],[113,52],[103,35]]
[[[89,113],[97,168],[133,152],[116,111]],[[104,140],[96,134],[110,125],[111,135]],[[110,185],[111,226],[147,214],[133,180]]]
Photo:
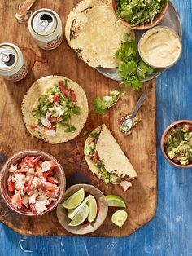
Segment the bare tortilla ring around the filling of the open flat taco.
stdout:
[[48,135],[41,134],[40,132],[35,131],[30,127],[37,125],[37,118],[33,117],[33,109],[37,107],[38,99],[41,97],[42,94],[51,90],[55,83],[58,83],[59,80],[62,81],[64,79],[68,78],[62,76],[41,77],[30,87],[27,94],[24,96],[24,100],[22,103],[22,113],[27,130],[37,139],[43,139],[51,144],[67,142],[68,140],[74,139],[77,135],[79,135],[81,130],[85,126],[85,122],[89,113],[85,91],[81,88],[81,86],[76,84],[76,82],[68,79],[68,86],[75,91],[77,104],[81,108],[81,114],[72,114],[72,117],[70,119],[70,123],[76,127],[76,130],[67,133],[64,131],[64,128],[60,126],[57,127],[55,137],[50,137]]

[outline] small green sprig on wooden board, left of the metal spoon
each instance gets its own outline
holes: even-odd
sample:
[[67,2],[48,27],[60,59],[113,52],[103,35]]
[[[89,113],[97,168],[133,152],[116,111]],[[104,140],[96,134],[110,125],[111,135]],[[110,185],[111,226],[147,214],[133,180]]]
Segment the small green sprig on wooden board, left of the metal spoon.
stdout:
[[119,95],[119,90],[112,90],[110,91],[110,95],[103,97],[103,99],[97,96],[93,102],[94,111],[99,115],[103,115],[107,112],[108,108],[111,108],[111,105],[116,103],[116,100],[118,99]]

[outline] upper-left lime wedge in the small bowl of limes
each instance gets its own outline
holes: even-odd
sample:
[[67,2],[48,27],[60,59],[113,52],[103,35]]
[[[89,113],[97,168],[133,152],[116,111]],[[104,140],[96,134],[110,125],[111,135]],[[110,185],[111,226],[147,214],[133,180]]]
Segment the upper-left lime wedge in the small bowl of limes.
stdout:
[[79,189],[77,192],[68,197],[66,201],[63,202],[62,206],[66,209],[74,209],[81,205],[81,202],[85,198],[84,188]]

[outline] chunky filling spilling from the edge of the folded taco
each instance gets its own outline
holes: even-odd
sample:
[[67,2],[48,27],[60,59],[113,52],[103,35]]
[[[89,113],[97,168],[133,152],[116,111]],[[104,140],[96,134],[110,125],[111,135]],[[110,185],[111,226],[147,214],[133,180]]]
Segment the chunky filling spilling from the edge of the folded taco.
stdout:
[[89,157],[89,160],[97,168],[97,176],[99,179],[102,179],[106,184],[120,184],[124,191],[126,191],[132,186],[130,183],[130,179],[132,178],[129,177],[128,174],[121,174],[118,170],[113,170],[113,172],[108,171],[107,167],[105,166],[105,161],[99,156],[97,143],[101,132],[102,130],[100,132],[94,132],[90,135],[92,139],[89,140],[89,143],[85,145],[85,157]]

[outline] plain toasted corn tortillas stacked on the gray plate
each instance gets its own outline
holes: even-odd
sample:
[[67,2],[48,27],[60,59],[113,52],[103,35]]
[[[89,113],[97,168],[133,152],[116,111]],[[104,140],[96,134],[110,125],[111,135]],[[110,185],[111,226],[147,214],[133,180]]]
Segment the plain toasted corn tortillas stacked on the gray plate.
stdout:
[[124,33],[133,30],[124,26],[112,10],[110,0],[84,0],[69,13],[65,37],[78,57],[93,68],[116,68],[115,52]]

